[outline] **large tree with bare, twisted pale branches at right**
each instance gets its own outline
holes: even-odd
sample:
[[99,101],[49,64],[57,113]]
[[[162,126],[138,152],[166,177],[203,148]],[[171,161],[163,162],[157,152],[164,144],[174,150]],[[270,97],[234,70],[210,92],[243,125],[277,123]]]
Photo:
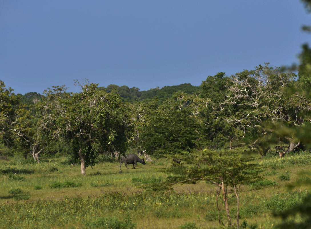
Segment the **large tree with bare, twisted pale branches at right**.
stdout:
[[[263,128],[265,122],[299,126],[309,121],[304,113],[311,110],[311,101],[303,93],[290,92],[295,86],[294,73],[281,73],[279,68],[265,63],[255,70],[239,72],[231,79],[232,85],[223,103],[223,119],[242,131],[242,138],[258,139],[262,133],[271,133]],[[300,144],[293,136],[286,136],[283,140],[290,145],[286,152],[293,151]],[[261,144],[256,148],[262,156],[269,149]]]

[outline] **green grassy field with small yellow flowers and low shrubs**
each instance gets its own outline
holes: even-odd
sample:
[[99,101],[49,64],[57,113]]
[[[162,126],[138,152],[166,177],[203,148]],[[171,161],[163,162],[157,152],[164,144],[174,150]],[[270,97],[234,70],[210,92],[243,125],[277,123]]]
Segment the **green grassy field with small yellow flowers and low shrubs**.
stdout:
[[[81,176],[80,166],[67,165],[66,158],[45,158],[39,164],[8,159],[0,160],[0,228],[220,228],[211,184],[175,185],[163,192],[139,188],[164,181],[167,174],[156,169],[170,160],[138,163],[129,170],[123,165],[122,172],[118,162],[100,163]],[[303,187],[288,191],[286,184],[310,179],[299,175],[310,170],[310,152],[258,157],[257,162],[265,180],[242,186],[241,228],[273,228],[280,219],[272,212],[290,208],[306,195]],[[236,198],[229,192],[234,215]]]

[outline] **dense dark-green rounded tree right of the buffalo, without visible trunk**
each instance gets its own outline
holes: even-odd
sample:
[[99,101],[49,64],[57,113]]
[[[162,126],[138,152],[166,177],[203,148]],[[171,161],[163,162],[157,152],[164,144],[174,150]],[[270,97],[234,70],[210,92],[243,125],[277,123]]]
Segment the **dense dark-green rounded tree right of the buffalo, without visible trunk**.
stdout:
[[[193,114],[191,96],[175,93],[163,105],[150,102],[146,124],[141,134],[142,145],[148,154],[162,157],[166,154],[187,153],[201,148],[205,135],[202,125]],[[201,145],[202,144],[202,145]],[[203,148],[203,147],[202,147]]]

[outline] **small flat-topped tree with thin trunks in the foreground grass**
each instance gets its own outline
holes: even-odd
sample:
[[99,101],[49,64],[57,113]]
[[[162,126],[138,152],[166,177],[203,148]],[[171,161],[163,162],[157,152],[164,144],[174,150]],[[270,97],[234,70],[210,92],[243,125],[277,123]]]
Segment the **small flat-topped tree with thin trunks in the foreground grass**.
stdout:
[[175,184],[197,183],[201,180],[209,181],[218,187],[216,202],[218,206],[218,196],[222,193],[225,204],[227,222],[220,221],[223,226],[232,227],[230,208],[228,204],[229,188],[234,190],[237,198],[236,228],[239,228],[239,191],[241,185],[246,185],[260,180],[259,165],[251,162],[253,158],[243,154],[244,148],[234,150],[209,150],[193,153],[187,156],[179,155],[185,163],[173,164],[171,167],[160,169],[161,172],[170,174],[168,180],[164,183],[156,184],[154,189],[171,188]]

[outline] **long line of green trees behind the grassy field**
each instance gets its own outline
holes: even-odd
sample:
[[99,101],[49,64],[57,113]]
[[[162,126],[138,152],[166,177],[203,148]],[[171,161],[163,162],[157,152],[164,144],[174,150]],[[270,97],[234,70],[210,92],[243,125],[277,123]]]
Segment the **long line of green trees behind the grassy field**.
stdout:
[[163,157],[244,145],[264,157],[272,145],[286,154],[308,144],[294,134],[311,121],[310,77],[300,71],[264,63],[231,76],[219,72],[198,87],[153,89],[159,93],[144,100],[132,100],[134,89],[124,95],[126,86],[75,82],[78,93],[64,85],[20,96],[1,81],[2,143],[36,161],[39,153],[69,153],[82,167],[100,152]]

